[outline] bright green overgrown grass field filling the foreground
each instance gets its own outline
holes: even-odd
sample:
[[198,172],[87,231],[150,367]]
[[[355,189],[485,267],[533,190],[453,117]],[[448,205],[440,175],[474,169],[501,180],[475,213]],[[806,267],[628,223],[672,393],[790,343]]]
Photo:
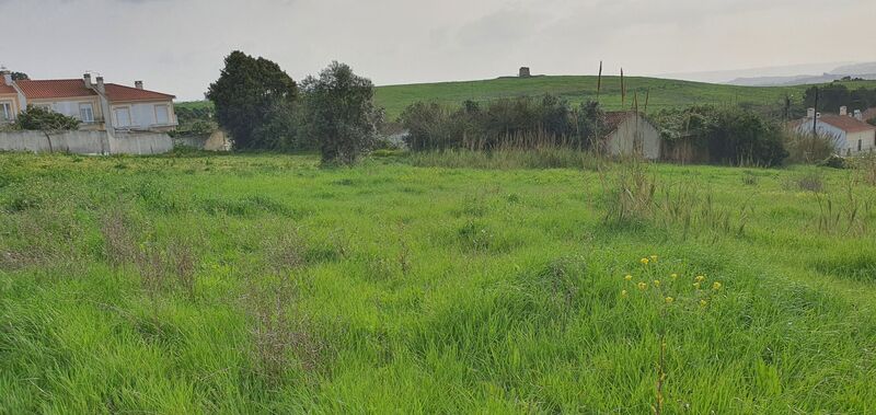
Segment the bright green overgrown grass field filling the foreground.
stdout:
[[856,172],[452,158],[0,154],[0,413],[876,407]]

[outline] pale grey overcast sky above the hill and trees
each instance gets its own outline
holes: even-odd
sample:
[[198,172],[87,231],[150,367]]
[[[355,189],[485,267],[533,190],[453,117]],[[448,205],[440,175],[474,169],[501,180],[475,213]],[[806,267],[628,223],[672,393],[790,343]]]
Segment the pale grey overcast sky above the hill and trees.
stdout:
[[[874,0],[0,0],[0,65],[203,99],[231,50],[293,79],[683,74],[876,60]],[[795,74],[795,73],[787,73]]]

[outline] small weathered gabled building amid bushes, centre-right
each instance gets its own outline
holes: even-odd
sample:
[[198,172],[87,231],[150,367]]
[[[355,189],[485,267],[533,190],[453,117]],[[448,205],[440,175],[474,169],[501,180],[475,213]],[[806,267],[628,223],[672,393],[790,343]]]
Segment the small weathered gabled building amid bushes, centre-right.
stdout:
[[660,158],[662,138],[657,127],[642,113],[619,111],[606,113],[604,150],[611,155]]

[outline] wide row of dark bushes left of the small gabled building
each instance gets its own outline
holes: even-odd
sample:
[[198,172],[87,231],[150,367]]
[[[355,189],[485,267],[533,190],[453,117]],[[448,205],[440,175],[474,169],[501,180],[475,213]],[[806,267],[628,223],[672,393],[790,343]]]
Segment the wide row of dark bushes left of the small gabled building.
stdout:
[[604,113],[596,102],[572,106],[554,95],[514,97],[459,106],[418,102],[400,117],[413,151],[499,147],[562,146],[586,149],[604,129]]

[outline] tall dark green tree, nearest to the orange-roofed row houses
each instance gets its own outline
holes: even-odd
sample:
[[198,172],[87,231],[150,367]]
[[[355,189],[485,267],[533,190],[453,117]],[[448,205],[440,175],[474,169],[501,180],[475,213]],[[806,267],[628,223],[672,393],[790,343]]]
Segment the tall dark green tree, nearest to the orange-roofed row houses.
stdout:
[[217,122],[231,132],[239,149],[277,148],[274,137],[254,132],[272,123],[269,117],[278,114],[274,108],[291,107],[297,96],[298,85],[277,64],[240,50],[226,57],[219,79],[207,91]]

